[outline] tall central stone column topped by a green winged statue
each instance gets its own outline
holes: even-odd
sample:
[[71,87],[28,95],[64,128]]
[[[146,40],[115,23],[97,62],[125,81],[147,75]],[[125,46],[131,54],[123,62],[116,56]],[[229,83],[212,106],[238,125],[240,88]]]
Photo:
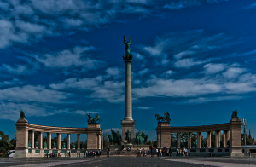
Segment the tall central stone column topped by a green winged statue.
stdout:
[[122,141],[127,142],[125,132],[129,130],[131,132],[131,143],[135,144],[135,121],[132,119],[132,102],[131,102],[131,60],[132,55],[130,54],[131,36],[129,41],[126,41],[124,36],[125,44],[125,55],[123,60],[125,61],[125,118],[121,122],[122,125]]

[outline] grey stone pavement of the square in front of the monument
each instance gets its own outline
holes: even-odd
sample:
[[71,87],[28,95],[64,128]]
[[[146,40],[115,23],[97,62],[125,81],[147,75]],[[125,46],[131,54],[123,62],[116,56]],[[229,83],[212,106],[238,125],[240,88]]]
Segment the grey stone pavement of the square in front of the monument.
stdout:
[[101,157],[101,158],[0,158],[2,166],[227,166],[256,167],[256,158],[230,157]]

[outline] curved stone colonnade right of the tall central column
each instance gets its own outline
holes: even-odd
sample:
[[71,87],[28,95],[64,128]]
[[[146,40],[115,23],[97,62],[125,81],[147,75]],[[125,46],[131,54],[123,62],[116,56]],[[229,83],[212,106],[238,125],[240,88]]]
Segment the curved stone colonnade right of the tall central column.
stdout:
[[[170,127],[170,123],[159,122],[155,129],[157,133],[157,147],[171,147],[171,134],[177,133],[177,148],[181,148],[181,133],[188,134],[188,152],[219,153],[231,156],[243,156],[241,153],[241,120],[239,118],[232,118],[226,124],[212,124],[203,126],[186,126],[186,127]],[[224,134],[223,147],[220,147],[221,131]],[[191,133],[197,133],[197,147],[191,145]],[[201,147],[201,133],[207,132],[207,146]],[[215,132],[215,147],[211,143],[211,132]],[[230,136],[229,136],[230,135]],[[230,140],[230,147],[227,147],[227,142]],[[212,149],[213,147],[213,149]],[[174,150],[175,151],[175,150]],[[201,153],[201,154],[204,154]]]

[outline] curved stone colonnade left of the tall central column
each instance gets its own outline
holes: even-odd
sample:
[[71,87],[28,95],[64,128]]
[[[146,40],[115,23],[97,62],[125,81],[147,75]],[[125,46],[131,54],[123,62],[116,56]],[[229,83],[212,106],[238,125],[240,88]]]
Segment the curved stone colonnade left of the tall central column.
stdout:
[[[42,157],[44,153],[83,153],[84,148],[80,148],[80,135],[87,134],[87,150],[101,149],[101,124],[90,123],[88,128],[68,128],[29,124],[25,118],[20,118],[16,122],[16,153],[15,157]],[[35,132],[38,136],[35,138]],[[47,147],[43,146],[43,133],[47,133]],[[52,148],[51,135],[57,135],[56,147]],[[67,135],[67,147],[61,146],[61,134]],[[70,134],[77,134],[77,148],[70,148]],[[31,146],[28,143],[30,141]],[[38,142],[36,146],[35,141]]]

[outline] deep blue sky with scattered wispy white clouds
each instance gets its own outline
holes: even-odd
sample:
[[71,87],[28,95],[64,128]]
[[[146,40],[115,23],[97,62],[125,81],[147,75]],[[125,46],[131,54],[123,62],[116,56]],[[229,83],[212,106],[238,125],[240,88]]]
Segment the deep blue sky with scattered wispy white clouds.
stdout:
[[9,138],[20,109],[30,124],[60,127],[84,128],[86,112],[99,114],[105,134],[120,132],[123,36],[132,36],[137,132],[156,140],[154,115],[165,111],[171,126],[196,126],[228,123],[237,110],[256,135],[255,0],[27,0],[0,9],[0,130]]

